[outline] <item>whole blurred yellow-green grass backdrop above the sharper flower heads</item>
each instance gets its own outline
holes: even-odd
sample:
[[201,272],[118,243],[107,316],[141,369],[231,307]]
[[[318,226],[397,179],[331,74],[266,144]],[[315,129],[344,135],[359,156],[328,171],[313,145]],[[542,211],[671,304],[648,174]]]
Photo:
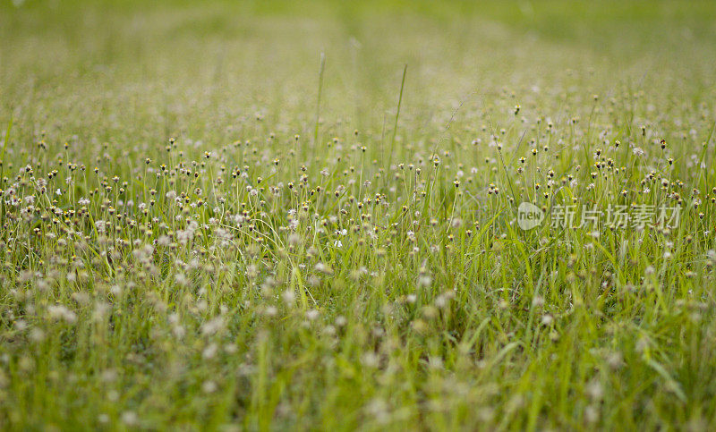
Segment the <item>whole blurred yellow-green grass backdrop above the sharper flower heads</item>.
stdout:
[[712,1],[14,4],[0,6],[0,121],[12,114],[26,138],[223,139],[256,113],[309,131],[320,53],[322,114],[374,130],[404,64],[405,116],[422,132],[502,91],[627,86],[654,89],[657,105],[698,103],[716,70]]

